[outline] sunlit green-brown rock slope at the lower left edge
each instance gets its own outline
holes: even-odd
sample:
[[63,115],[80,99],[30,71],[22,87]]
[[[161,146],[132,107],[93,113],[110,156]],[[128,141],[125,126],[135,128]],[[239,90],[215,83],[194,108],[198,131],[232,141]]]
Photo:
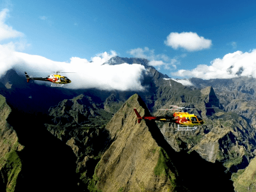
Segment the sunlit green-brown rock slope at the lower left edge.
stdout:
[[22,169],[19,152],[24,148],[20,145],[13,127],[6,122],[11,109],[5,98],[0,95],[0,190],[15,191],[17,178]]

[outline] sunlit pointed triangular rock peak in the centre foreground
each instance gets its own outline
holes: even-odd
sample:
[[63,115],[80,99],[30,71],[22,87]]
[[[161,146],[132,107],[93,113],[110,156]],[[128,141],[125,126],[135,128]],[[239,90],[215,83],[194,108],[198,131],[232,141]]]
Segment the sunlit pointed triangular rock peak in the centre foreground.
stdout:
[[111,146],[100,158],[90,181],[90,191],[177,191],[178,173],[166,151],[152,138],[145,121],[137,124],[133,108],[149,114],[138,95],[133,95],[106,125]]

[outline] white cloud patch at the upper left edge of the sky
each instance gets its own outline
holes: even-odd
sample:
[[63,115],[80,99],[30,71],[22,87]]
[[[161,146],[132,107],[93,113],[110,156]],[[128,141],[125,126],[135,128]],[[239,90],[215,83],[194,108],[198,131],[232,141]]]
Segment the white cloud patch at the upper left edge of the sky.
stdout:
[[4,24],[6,17],[8,17],[8,12],[9,10],[7,8],[4,8],[0,12],[0,41],[24,36],[23,33],[20,33],[19,31],[13,29],[11,26]]

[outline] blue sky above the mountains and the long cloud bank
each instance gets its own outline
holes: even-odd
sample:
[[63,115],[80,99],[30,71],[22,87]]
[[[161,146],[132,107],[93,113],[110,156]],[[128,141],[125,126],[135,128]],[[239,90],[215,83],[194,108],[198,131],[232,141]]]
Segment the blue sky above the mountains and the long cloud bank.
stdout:
[[[115,51],[120,57],[147,58],[170,77],[208,79],[219,77],[211,72],[220,66],[238,70],[246,55],[253,65],[254,1],[21,0],[3,1],[0,6],[1,13],[6,13],[3,25],[16,31],[10,37],[0,34],[0,44],[12,42],[13,51],[51,61],[90,61]],[[233,63],[224,59],[226,55]]]

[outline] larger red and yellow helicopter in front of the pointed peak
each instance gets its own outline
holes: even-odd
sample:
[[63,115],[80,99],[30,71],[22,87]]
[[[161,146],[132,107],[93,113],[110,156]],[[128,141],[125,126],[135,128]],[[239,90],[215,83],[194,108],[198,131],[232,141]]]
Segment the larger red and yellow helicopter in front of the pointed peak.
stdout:
[[[178,106],[172,106],[173,109],[158,109],[158,110],[177,110],[177,109],[193,109],[193,108],[180,108]],[[138,118],[138,124],[141,120],[157,120],[163,122],[172,122],[178,124],[176,131],[193,131],[198,128],[199,125],[204,124],[202,118],[195,114],[189,114],[188,112],[175,112],[172,116],[140,116],[138,111],[134,108],[134,111]]]

